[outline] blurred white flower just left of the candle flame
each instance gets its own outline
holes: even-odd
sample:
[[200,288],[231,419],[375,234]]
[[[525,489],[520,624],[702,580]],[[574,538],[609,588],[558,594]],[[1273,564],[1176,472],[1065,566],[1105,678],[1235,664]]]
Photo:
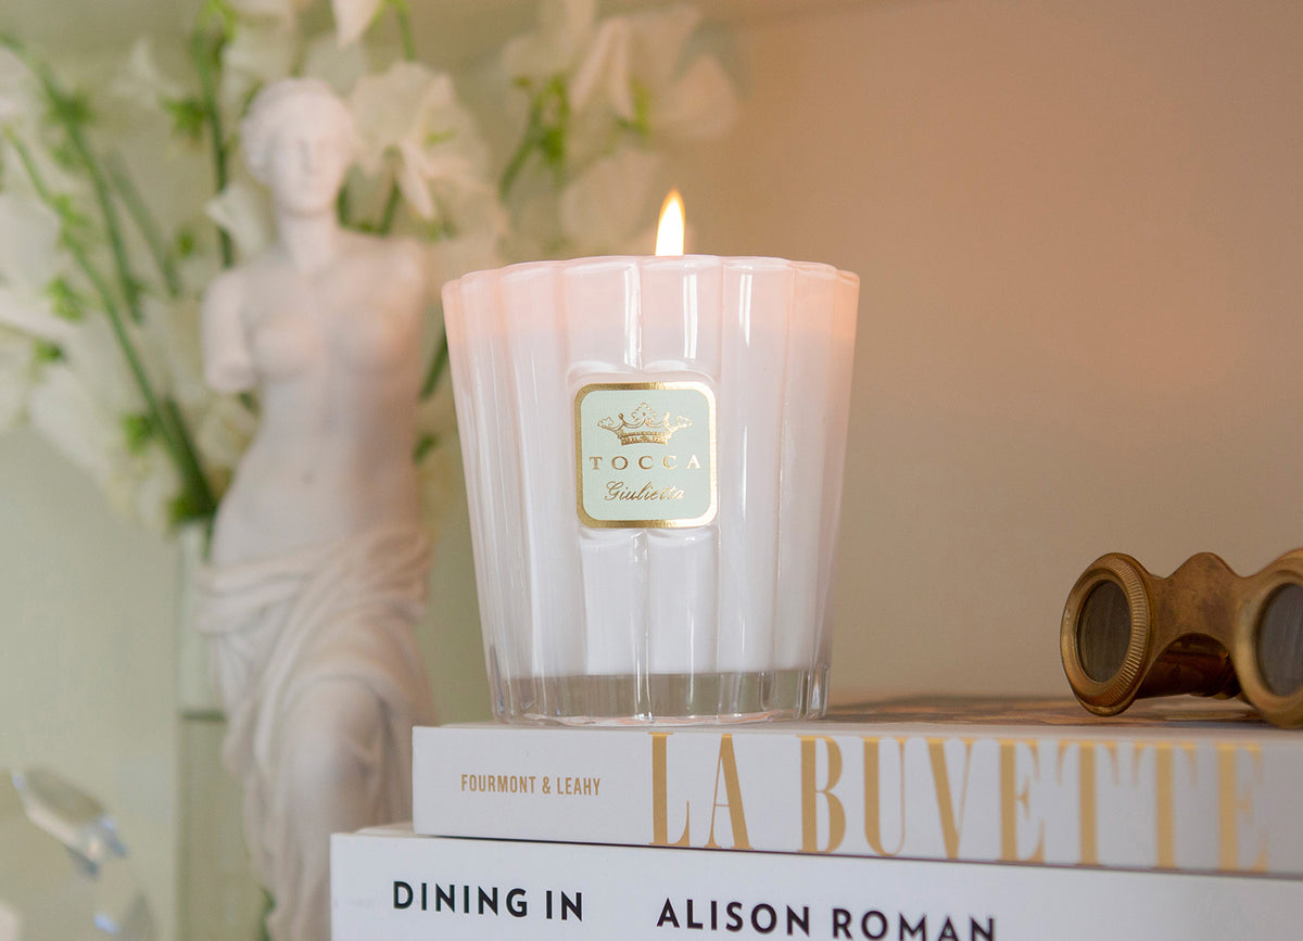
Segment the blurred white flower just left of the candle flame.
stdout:
[[632,147],[593,163],[562,190],[562,232],[582,254],[622,248],[638,229],[661,159]]

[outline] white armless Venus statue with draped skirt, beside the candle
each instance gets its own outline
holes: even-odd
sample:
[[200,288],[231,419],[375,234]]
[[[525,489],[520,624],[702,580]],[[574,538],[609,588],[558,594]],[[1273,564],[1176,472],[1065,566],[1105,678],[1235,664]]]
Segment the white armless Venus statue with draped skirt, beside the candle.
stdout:
[[429,571],[413,463],[425,279],[410,242],[336,220],[353,123],[322,82],[263,90],[242,126],[279,240],[203,302],[208,383],[261,424],[222,500],[199,630],[229,722],[275,941],[330,937],[328,837],[410,816],[413,636]]

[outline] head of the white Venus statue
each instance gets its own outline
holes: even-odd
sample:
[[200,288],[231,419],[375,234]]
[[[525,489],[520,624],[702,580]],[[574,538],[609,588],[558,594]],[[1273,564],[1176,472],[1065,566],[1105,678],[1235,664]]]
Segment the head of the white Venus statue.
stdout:
[[330,86],[285,78],[258,93],[241,124],[245,163],[278,209],[319,212],[335,203],[353,162],[353,116]]

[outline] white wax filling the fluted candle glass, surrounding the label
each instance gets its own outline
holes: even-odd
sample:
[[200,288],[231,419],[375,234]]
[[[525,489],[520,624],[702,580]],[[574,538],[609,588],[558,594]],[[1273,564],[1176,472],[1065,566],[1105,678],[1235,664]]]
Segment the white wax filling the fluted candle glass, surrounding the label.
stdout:
[[[856,296],[829,266],[705,255],[538,262],[444,287],[499,675],[826,663]],[[576,395],[620,382],[713,392],[705,525],[581,521]]]

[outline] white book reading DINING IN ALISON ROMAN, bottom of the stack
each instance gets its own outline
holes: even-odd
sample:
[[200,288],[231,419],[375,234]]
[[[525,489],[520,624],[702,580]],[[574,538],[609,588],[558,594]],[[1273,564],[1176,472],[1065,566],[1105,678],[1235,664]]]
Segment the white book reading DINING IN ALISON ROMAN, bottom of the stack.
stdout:
[[1303,881],[413,835],[331,838],[334,941],[1296,937]]

